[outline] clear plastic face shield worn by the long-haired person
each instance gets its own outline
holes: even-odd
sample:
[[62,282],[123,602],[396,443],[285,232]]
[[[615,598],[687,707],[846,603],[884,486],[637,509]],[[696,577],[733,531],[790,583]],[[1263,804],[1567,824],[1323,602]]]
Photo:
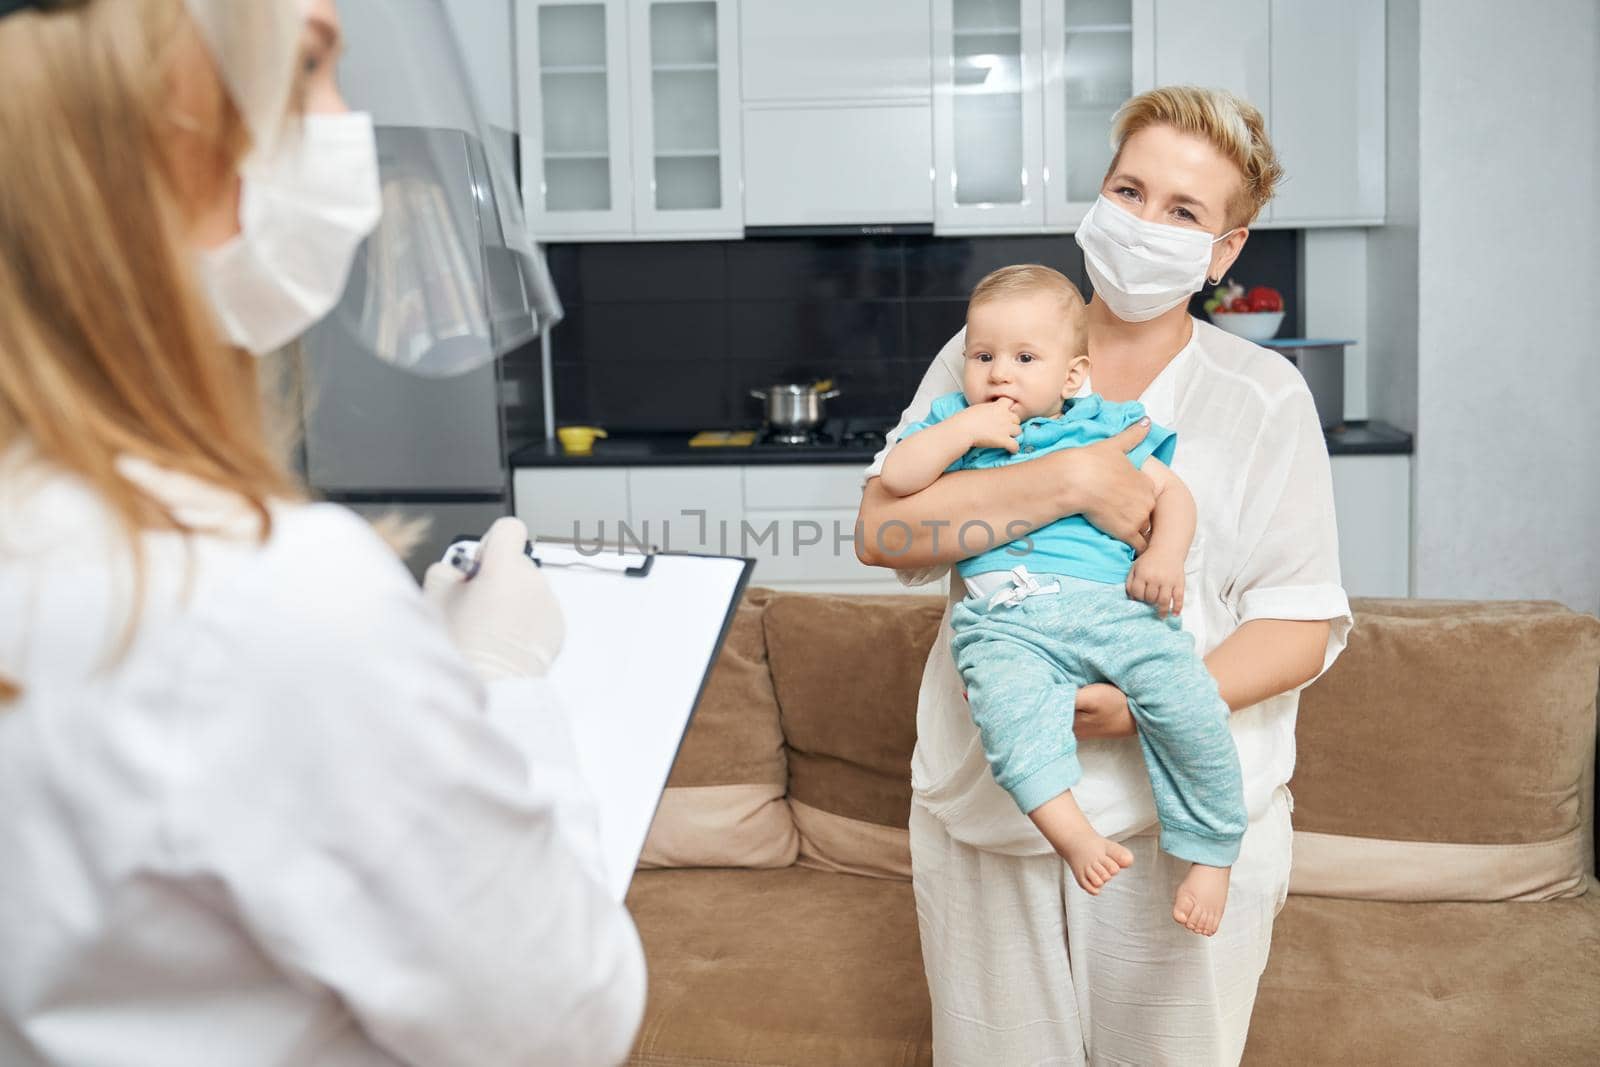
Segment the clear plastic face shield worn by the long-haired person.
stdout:
[[[282,22],[286,10],[298,54],[304,2],[186,2],[256,142],[293,138],[293,118],[272,115],[286,107],[294,56],[280,54],[282,32],[242,22]],[[339,88],[350,110],[373,117],[382,218],[315,328],[318,347],[365,350],[426,378],[464,374],[562,315],[526,232],[509,136],[483,123],[438,0],[339,0],[338,11]]]

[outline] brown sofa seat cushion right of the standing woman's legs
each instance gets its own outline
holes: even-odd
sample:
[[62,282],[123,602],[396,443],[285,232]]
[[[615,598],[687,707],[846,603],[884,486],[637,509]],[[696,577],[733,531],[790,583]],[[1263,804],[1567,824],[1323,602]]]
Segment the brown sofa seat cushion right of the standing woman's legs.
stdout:
[[1600,1064],[1597,1005],[1597,893],[1541,904],[1291,896],[1243,1062]]

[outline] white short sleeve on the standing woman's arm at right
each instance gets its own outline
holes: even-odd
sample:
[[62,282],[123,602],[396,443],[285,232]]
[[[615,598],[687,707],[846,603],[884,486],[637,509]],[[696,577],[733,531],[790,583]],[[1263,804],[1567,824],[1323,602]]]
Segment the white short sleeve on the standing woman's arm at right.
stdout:
[[1306,389],[1285,392],[1261,421],[1240,506],[1238,545],[1224,592],[1238,624],[1326,619],[1326,670],[1344,651],[1352,617],[1339,581],[1328,445]]

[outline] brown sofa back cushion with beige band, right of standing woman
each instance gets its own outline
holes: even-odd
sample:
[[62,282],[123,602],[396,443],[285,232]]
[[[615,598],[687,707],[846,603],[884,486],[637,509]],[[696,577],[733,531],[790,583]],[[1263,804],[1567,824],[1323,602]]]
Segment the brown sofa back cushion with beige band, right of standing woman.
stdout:
[[1301,697],[1294,893],[1584,891],[1600,621],[1554,603],[1357,600]]

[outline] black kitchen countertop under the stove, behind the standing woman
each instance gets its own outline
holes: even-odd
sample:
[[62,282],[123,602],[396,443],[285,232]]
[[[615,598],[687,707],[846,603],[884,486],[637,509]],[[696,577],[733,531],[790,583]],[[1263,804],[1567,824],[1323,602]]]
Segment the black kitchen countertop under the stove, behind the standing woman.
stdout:
[[[690,448],[691,434],[626,434],[595,442],[589,456],[568,456],[558,443],[531,442],[512,450],[512,467],[683,467],[758,464],[853,464],[866,467],[877,442],[747,445]],[[1330,456],[1410,456],[1411,435],[1387,422],[1355,419],[1326,432]]]

